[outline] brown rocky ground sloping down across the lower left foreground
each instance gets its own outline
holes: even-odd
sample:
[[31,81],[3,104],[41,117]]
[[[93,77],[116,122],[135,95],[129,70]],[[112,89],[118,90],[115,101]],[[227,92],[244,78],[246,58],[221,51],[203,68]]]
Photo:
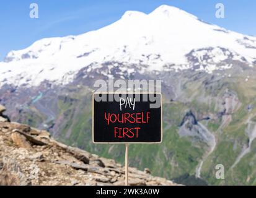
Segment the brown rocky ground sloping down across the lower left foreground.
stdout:
[[[69,147],[47,131],[10,123],[0,105],[0,185],[123,185],[114,160]],[[150,171],[129,168],[130,185],[176,185]]]

